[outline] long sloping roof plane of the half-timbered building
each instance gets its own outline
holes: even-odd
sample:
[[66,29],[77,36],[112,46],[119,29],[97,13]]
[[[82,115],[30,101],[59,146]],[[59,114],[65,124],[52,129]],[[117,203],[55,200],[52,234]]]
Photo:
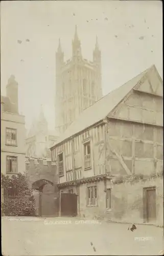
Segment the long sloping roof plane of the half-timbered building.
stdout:
[[123,98],[125,98],[125,96],[136,86],[136,84],[145,76],[149,69],[145,70],[143,73],[137,75],[127,83],[123,84],[123,86],[111,91],[109,94],[102,97],[93,105],[85,109],[51,148],[61,143],[65,139],[85,130],[87,127],[105,119],[107,115],[115,108],[115,106],[118,105],[123,100]]

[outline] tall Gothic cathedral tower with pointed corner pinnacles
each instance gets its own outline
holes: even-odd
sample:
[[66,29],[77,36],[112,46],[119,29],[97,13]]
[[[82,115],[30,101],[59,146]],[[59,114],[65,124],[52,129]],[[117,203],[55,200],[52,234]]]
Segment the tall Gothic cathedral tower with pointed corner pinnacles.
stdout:
[[84,59],[76,26],[72,58],[64,62],[60,39],[56,52],[56,130],[64,132],[84,109],[101,97],[101,51],[98,39],[93,50],[93,61]]

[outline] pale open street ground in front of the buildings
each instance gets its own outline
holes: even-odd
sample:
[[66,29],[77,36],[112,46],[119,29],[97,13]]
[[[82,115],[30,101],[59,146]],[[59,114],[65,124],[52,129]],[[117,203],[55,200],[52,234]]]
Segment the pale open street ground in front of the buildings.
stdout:
[[163,250],[163,228],[78,218],[2,217],[4,256],[156,255]]

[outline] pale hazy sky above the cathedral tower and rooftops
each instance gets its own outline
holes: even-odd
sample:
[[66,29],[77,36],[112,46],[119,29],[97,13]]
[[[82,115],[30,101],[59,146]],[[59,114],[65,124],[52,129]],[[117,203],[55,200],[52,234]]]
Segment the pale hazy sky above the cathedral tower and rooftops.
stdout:
[[13,74],[27,129],[42,104],[54,130],[55,53],[60,38],[71,58],[76,25],[84,58],[98,36],[103,95],[153,64],[163,75],[161,1],[1,1],[1,94]]

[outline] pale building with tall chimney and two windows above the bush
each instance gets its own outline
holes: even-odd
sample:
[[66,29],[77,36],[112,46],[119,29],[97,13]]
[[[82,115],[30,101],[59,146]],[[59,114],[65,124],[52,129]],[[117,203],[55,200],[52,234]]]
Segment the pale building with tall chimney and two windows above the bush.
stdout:
[[25,116],[18,112],[18,83],[11,76],[6,96],[1,96],[1,171],[5,175],[25,172]]

